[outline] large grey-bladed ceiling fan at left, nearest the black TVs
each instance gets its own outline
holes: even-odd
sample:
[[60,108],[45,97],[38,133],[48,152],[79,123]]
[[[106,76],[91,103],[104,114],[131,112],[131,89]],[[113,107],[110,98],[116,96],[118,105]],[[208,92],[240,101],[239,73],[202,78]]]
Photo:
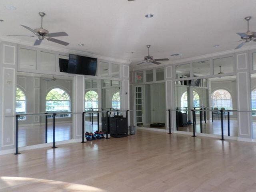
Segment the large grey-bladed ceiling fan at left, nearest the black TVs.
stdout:
[[48,41],[58,43],[64,46],[69,45],[68,42],[64,42],[58,39],[55,39],[53,37],[61,37],[61,36],[68,36],[66,32],[56,32],[56,33],[49,33],[48,30],[43,28],[43,17],[45,16],[44,12],[39,12],[39,15],[41,17],[41,27],[32,29],[28,26],[21,25],[22,27],[26,28],[27,30],[30,30],[34,35],[7,35],[7,36],[28,36],[28,37],[38,37],[38,39],[35,41],[34,45],[40,45],[42,40],[47,39]]

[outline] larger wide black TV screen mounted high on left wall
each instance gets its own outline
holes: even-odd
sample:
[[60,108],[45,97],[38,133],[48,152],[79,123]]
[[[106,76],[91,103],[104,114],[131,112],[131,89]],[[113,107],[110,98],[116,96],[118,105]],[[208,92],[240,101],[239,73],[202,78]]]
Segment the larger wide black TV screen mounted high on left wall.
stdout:
[[69,54],[68,73],[95,76],[96,70],[96,58]]

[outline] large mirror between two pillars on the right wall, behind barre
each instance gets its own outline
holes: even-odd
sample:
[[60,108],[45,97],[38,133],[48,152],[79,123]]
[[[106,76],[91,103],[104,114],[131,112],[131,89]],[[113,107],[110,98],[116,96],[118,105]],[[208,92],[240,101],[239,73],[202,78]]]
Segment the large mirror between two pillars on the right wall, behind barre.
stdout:
[[[236,110],[236,76],[178,81],[174,83],[176,103],[176,128],[192,132],[192,112],[196,110],[196,132],[221,134],[220,110]],[[201,112],[200,110],[204,111]],[[215,111],[214,111],[215,110]],[[224,112],[224,135],[238,136],[237,113]],[[201,120],[201,124],[200,124]]]

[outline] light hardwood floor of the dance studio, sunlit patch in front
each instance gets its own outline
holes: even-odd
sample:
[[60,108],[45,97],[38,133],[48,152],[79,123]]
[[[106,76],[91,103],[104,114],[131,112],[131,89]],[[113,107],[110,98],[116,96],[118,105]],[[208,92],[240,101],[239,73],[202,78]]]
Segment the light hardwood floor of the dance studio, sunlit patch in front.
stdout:
[[138,130],[0,156],[0,191],[255,192],[256,144]]

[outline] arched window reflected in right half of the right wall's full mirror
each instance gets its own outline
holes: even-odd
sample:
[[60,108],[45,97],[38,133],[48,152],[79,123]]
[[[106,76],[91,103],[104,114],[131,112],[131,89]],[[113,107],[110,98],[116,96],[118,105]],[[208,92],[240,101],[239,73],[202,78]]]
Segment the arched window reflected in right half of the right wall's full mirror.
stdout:
[[212,93],[212,106],[218,109],[232,110],[232,98],[230,93],[224,89],[218,89]]

